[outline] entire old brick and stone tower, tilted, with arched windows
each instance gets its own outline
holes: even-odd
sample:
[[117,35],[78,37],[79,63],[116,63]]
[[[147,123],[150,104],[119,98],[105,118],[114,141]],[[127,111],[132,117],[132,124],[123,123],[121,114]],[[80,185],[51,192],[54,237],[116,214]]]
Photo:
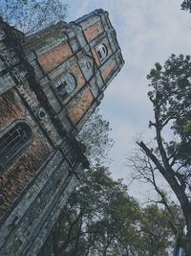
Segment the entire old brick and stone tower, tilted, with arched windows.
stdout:
[[36,255],[80,174],[75,140],[124,60],[108,13],[25,36],[0,20],[0,255]]

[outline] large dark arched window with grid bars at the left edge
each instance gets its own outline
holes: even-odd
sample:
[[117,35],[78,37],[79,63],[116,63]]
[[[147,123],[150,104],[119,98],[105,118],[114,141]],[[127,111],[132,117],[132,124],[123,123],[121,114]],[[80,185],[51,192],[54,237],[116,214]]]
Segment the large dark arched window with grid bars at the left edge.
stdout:
[[32,128],[23,120],[16,120],[0,131],[0,174],[30,147],[32,139]]

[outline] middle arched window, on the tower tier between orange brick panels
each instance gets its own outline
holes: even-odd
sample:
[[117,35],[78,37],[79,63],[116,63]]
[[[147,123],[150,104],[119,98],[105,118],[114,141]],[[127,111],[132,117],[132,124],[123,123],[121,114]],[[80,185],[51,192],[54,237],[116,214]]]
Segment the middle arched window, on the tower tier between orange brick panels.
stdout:
[[73,74],[67,73],[56,81],[54,85],[58,95],[65,99],[69,94],[74,92],[77,82]]

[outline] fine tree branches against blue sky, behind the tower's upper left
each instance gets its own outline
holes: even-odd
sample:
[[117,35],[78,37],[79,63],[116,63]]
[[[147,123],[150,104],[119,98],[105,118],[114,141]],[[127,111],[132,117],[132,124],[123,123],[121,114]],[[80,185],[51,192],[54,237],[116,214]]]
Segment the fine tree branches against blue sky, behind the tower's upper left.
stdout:
[[0,15],[28,35],[63,20],[67,8],[59,0],[1,0]]

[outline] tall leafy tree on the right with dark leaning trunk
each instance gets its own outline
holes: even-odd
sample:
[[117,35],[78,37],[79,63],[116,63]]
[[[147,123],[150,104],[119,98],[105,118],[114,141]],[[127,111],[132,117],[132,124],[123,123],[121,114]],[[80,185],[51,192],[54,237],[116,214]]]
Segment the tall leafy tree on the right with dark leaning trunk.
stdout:
[[[154,121],[149,127],[156,132],[155,146],[143,141],[138,141],[138,146],[152,163],[153,174],[159,172],[180,201],[191,244],[191,58],[172,55],[163,69],[156,63],[147,79],[152,88],[148,97]],[[166,130],[172,134],[164,140]]]

